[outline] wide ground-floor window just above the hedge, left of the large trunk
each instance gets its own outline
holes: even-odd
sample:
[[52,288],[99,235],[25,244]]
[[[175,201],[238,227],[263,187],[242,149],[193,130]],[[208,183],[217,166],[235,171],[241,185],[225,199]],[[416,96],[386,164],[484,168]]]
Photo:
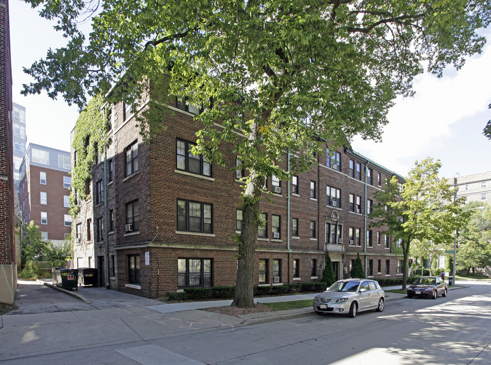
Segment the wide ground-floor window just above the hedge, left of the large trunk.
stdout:
[[212,260],[178,259],[178,286],[212,286]]

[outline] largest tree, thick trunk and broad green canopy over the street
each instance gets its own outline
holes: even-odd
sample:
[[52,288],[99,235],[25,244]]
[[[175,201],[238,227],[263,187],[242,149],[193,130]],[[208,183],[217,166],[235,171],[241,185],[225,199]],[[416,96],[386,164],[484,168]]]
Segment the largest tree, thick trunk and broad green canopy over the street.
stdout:
[[[194,153],[224,165],[218,145],[235,145],[249,171],[233,301],[239,307],[253,305],[265,177],[305,171],[322,140],[335,148],[355,134],[378,139],[394,98],[413,95],[413,78],[425,67],[438,76],[447,64],[460,68],[481,52],[485,39],[476,29],[491,21],[488,0],[24,1],[56,18],[68,40],[26,69],[35,81],[24,93],[46,90],[83,107],[86,95],[116,85],[108,101],[136,111],[150,82],[154,92],[139,119],[146,138],[165,127],[167,95],[176,95],[207,106],[195,117],[204,128]],[[78,21],[90,16],[86,37]]]

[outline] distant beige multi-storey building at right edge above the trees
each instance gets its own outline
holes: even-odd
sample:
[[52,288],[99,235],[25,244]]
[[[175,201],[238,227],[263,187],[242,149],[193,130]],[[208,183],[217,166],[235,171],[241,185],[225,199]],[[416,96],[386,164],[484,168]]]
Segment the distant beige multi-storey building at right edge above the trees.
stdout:
[[491,171],[470,175],[455,174],[448,179],[448,184],[457,186],[457,198],[465,197],[466,203],[471,201],[491,203]]

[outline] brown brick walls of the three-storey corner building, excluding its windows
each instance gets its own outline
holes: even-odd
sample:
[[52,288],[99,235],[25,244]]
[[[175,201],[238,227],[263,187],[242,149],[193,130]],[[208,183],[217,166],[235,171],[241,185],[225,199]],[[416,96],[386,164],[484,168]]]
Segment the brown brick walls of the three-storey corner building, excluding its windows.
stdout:
[[[177,168],[177,141],[194,142],[195,132],[200,125],[193,115],[181,111],[176,104],[169,106],[173,114],[165,117],[166,131],[160,132],[151,143],[144,143],[138,134],[139,127],[132,119],[123,121],[123,106],[113,108],[112,144],[107,159],[114,162],[114,180],[107,187],[107,211],[114,211],[114,229],[108,234],[108,252],[103,240],[90,242],[83,239],[76,245],[75,257],[82,252],[101,257],[108,262],[114,257],[114,276],[109,285],[120,291],[150,298],[164,297],[165,294],[182,288],[178,282],[179,259],[211,260],[212,285],[234,285],[237,274],[236,243],[231,236],[236,230],[236,209],[240,202],[242,182],[236,179],[236,157],[231,154],[231,145],[223,144],[222,153],[227,167],[212,164],[211,176],[182,171]],[[125,163],[127,148],[137,143],[138,168],[126,176]],[[326,155],[318,156],[318,166],[298,177],[298,194],[290,194],[290,222],[288,222],[288,184],[280,181],[281,192],[269,195],[274,204],[267,199],[261,200],[261,210],[267,214],[267,237],[258,238],[254,282],[259,283],[259,260],[266,260],[266,282],[261,284],[281,284],[293,282],[317,281],[322,277],[326,250],[329,249],[334,262],[336,278],[349,277],[352,260],[360,253],[362,261],[373,261],[373,277],[396,277],[396,261],[399,255],[385,248],[383,239],[377,245],[376,230],[373,230],[372,247],[364,250],[365,240],[365,184],[364,169],[368,162],[363,156],[350,149],[341,150],[341,171],[326,166]],[[73,155],[73,154],[72,154]],[[349,160],[361,164],[362,180],[350,177]],[[370,162],[371,163],[371,162]],[[371,163],[373,164],[373,163]],[[285,169],[287,163],[285,159]],[[372,185],[367,186],[367,199],[373,199],[377,184],[377,174],[382,181],[389,170],[374,164]],[[103,163],[94,167],[91,189],[94,191],[97,180],[103,180]],[[310,181],[315,182],[315,198],[310,197]],[[271,190],[271,177],[267,188]],[[326,186],[341,190],[341,206],[329,205]],[[349,194],[360,196],[360,213],[349,211]],[[80,195],[80,194],[79,194]],[[178,200],[209,204],[212,207],[211,233],[195,233],[178,229]],[[104,204],[96,205],[81,201],[81,210],[76,224],[86,232],[87,216],[92,215],[94,229],[97,217],[104,217]],[[127,204],[137,201],[139,229],[126,232]],[[93,209],[94,213],[91,214]],[[334,217],[333,217],[334,212]],[[108,213],[109,214],[109,213]],[[272,215],[279,215],[279,238],[272,234]],[[292,218],[298,218],[298,236],[292,236]],[[311,237],[310,222],[315,222],[315,237]],[[336,237],[336,243],[326,243],[326,223],[342,224],[342,238]],[[290,224],[290,239],[288,229]],[[367,225],[369,221],[367,221]],[[360,245],[349,245],[348,231],[353,227],[360,230]],[[377,230],[380,231],[380,230]],[[341,242],[342,241],[342,242]],[[78,248],[77,248],[78,247]],[[133,255],[139,255],[139,280],[130,278],[134,273],[129,269]],[[146,257],[148,262],[146,262]],[[279,278],[275,283],[273,260],[279,260]],[[293,262],[298,260],[299,275],[294,277]],[[312,261],[316,260],[316,261]],[[380,273],[378,260],[381,260]],[[390,273],[385,274],[386,260],[390,260]],[[148,264],[148,265],[147,265]],[[312,265],[315,265],[312,268]],[[365,266],[365,264],[364,264]],[[99,268],[105,275],[108,268]],[[275,273],[276,275],[278,273]],[[275,275],[275,276],[276,276]],[[133,282],[130,282],[133,281]]]

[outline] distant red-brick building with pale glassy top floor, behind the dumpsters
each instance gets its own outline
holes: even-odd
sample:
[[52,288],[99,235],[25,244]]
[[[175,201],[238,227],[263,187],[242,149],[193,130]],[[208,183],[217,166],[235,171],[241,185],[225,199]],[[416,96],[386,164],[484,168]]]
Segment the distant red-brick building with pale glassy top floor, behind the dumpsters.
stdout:
[[19,204],[23,224],[33,221],[41,237],[57,244],[72,233],[68,197],[70,153],[39,144],[27,145],[20,166]]

